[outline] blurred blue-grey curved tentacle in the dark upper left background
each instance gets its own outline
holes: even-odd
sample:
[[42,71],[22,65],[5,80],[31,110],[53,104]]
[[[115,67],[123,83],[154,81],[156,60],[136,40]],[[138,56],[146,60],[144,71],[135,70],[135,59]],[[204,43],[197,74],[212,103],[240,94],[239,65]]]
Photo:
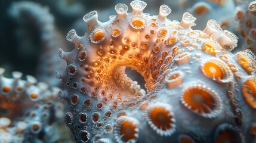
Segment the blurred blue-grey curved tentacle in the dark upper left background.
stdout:
[[42,53],[38,60],[38,74],[36,78],[51,86],[59,86],[58,80],[54,78],[54,70],[62,70],[65,64],[61,62],[56,52],[58,48],[64,48],[63,41],[58,38],[60,33],[54,25],[54,17],[49,13],[48,7],[42,7],[35,2],[14,2],[10,8],[10,15],[17,22],[22,23],[24,19],[38,27],[41,38]]

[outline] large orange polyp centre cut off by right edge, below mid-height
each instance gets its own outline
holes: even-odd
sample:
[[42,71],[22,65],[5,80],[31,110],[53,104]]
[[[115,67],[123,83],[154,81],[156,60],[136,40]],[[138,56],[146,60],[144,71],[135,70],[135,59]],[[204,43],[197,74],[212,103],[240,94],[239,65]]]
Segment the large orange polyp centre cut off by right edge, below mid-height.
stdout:
[[242,85],[242,93],[249,106],[256,109],[256,77],[249,77]]

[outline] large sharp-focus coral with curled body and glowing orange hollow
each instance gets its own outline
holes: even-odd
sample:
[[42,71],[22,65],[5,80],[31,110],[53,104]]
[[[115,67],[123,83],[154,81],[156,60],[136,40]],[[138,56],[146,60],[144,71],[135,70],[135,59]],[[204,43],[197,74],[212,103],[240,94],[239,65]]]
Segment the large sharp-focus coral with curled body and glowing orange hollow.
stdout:
[[[97,12],[84,16],[87,33],[70,30],[73,51],[56,71],[69,104],[66,126],[77,142],[251,142],[255,138],[255,56],[233,55],[233,33],[209,20],[193,30],[184,13],[171,21],[167,5],[159,15],[142,11],[143,1],[117,4],[106,23]],[[147,94],[125,74],[137,70]]]

